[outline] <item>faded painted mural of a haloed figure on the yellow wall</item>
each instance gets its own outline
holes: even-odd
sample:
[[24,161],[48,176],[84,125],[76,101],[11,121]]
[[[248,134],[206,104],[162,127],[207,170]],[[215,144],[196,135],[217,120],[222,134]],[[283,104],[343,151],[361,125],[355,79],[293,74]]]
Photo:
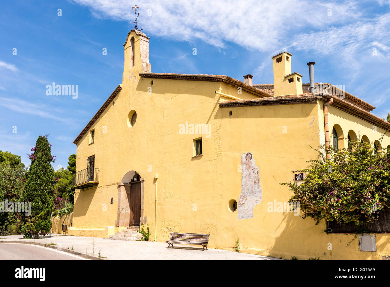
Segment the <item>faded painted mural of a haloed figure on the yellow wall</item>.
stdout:
[[238,199],[238,219],[254,217],[254,207],[262,200],[259,167],[252,152],[241,154],[241,195]]

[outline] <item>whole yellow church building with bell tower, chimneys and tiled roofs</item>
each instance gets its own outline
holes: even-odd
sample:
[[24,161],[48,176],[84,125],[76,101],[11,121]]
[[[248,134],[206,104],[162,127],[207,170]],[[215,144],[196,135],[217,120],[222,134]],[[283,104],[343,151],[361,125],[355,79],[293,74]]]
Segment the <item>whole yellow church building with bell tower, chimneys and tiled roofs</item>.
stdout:
[[[74,140],[77,165],[69,234],[131,239],[150,227],[150,240],[170,232],[210,234],[209,247],[307,260],[374,259],[390,255],[390,235],[370,234],[376,251],[360,251],[355,234],[325,221],[278,212],[322,144],[348,139],[390,148],[379,137],[390,123],[374,106],[329,83],[292,72],[292,55],[272,57],[273,85],[224,75],[152,73],[149,37],[131,30],[118,85]],[[271,59],[270,59],[271,60]],[[271,207],[271,208],[270,208]],[[350,243],[353,241],[353,243]],[[331,243],[332,248],[329,248]],[[205,251],[207,252],[207,251]]]

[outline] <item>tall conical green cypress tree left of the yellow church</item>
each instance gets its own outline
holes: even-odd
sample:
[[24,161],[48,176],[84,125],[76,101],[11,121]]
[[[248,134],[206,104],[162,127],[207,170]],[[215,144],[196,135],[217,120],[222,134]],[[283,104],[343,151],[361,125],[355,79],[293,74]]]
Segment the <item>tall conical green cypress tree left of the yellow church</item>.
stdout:
[[54,200],[54,170],[51,162],[54,162],[54,157],[51,156],[50,146],[47,136],[39,136],[29,155],[31,164],[21,201],[31,202],[30,216],[23,217],[25,236],[30,238],[44,236],[51,229]]

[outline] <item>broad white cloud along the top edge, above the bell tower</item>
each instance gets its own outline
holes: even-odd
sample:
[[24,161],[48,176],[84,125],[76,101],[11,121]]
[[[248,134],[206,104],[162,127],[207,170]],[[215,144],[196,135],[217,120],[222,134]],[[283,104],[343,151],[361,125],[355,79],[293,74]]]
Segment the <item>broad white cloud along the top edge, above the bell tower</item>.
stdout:
[[[132,22],[127,0],[73,0],[90,8],[99,18]],[[220,48],[233,42],[251,50],[280,50],[291,31],[316,29],[357,19],[355,2],[346,4],[308,0],[140,1],[139,27],[150,35],[179,41],[200,39]],[[332,16],[328,16],[331,9]],[[151,14],[148,16],[148,13]],[[290,37],[291,38],[291,37]]]

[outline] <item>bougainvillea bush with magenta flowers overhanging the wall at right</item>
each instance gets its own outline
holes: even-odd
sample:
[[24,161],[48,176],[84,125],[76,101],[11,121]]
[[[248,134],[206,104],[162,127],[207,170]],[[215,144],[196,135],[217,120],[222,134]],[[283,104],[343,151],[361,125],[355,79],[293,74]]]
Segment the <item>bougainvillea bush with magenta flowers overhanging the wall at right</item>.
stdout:
[[362,225],[390,208],[390,151],[376,153],[358,140],[349,141],[347,149],[316,150],[319,159],[301,171],[304,181],[283,183],[293,191],[290,201],[300,202],[303,218]]

